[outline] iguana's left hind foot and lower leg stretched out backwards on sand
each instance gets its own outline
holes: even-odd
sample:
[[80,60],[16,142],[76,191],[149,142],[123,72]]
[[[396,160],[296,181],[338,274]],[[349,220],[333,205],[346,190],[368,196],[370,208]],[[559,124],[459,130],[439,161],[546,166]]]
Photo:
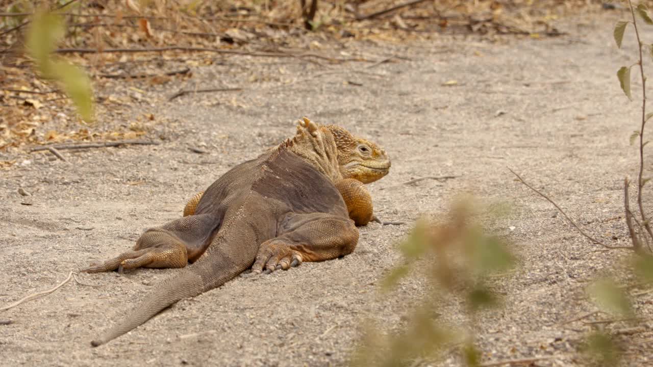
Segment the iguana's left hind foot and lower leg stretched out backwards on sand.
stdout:
[[181,243],[165,243],[144,249],[133,249],[104,261],[91,264],[80,271],[87,273],[110,272],[135,268],[183,268],[188,262],[186,247]]

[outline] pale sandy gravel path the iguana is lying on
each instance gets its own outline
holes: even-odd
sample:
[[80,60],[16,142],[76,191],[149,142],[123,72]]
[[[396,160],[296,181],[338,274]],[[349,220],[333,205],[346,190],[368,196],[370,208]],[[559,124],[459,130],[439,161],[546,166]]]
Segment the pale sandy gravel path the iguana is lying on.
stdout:
[[[378,57],[410,58],[374,67],[240,57],[194,67],[184,86],[123,82],[125,91],[145,90],[147,101],[135,99],[122,120],[102,123],[165,116],[150,133],[161,144],[65,151],[70,165],[46,153],[5,154],[23,165],[0,172],[0,305],[131,247],[148,227],[179,217],[193,193],[292,135],[293,121],[309,116],[385,146],[392,170],[370,191],[386,220],[410,223],[443,212],[461,191],[512,204],[514,215],[499,231],[514,242],[521,267],[500,284],[505,308],[481,317],[483,361],[549,356],[536,365],[582,364],[575,351],[590,330],[583,321],[594,318],[565,321],[596,310],[584,288],[627,251],[596,251],[506,167],[556,198],[587,231],[611,245],[628,244],[618,217],[623,178],[637,172],[628,137],[639,107],[628,103],[615,78],[618,67],[634,62],[633,42],[625,50],[614,46],[615,19],[574,22],[565,29],[570,35],[554,39],[358,44]],[[457,84],[443,85],[450,80]],[[167,101],[182,87],[223,86],[244,90]],[[399,185],[432,175],[460,177]],[[32,196],[18,195],[19,187]],[[175,270],[82,274],[81,281],[98,286],[71,281],[0,312],[0,321],[12,321],[0,325],[0,364],[341,366],[362,320],[400,327],[407,304],[424,294],[419,279],[403,281],[390,295],[378,292],[400,261],[394,245],[410,229],[362,227],[357,249],[343,259],[236,278],[97,348],[89,345],[93,336]],[[641,343],[628,349],[631,366],[653,363],[652,302],[650,293],[635,298],[648,319],[628,336]],[[443,302],[440,311],[447,321],[465,321],[456,304]],[[456,366],[460,359],[451,351],[419,365],[429,364]]]

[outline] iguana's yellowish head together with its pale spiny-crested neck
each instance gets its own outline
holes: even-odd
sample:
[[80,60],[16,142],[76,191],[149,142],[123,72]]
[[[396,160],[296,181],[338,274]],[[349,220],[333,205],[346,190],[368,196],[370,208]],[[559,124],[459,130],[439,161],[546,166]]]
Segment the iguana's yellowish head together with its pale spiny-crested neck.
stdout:
[[353,178],[370,183],[390,170],[390,158],[373,142],[340,126],[319,125],[308,118],[298,121],[297,133],[285,146],[333,181]]

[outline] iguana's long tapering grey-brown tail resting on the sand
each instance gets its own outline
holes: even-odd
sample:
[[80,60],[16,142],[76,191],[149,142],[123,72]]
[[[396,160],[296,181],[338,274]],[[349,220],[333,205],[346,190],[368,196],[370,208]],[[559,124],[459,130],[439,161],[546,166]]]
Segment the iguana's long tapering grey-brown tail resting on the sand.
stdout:
[[209,289],[219,287],[247,270],[254,263],[253,256],[251,259],[241,257],[240,261],[232,261],[224,254],[215,253],[214,256],[209,257],[206,255],[208,253],[205,253],[197,263],[183,268],[180,274],[174,274],[157,284],[140,304],[127,313],[123,320],[106,330],[99,338],[91,341],[91,345],[97,347],[118,338],[148,321],[159,311],[172,306],[178,300],[197,296]]

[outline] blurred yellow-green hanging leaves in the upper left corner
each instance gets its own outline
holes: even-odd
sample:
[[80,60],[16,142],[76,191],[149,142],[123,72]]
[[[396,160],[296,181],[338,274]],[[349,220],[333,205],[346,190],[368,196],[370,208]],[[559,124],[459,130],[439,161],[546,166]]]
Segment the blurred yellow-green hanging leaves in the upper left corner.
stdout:
[[27,33],[27,48],[45,78],[61,84],[86,121],[93,120],[93,89],[86,72],[52,56],[57,42],[65,35],[63,20],[50,12],[35,14]]

